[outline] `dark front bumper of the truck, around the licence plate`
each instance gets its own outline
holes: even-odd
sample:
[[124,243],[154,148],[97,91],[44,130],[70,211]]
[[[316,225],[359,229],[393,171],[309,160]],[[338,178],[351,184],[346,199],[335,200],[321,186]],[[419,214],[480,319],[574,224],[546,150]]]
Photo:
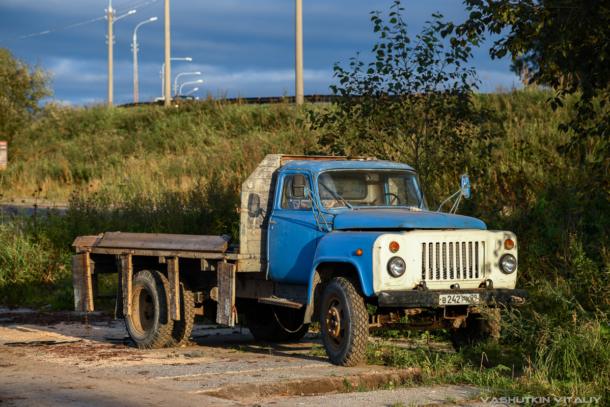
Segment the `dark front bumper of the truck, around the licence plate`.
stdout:
[[379,293],[379,306],[439,306],[440,294],[479,294],[479,303],[484,304],[523,305],[528,299],[525,289],[387,290]]

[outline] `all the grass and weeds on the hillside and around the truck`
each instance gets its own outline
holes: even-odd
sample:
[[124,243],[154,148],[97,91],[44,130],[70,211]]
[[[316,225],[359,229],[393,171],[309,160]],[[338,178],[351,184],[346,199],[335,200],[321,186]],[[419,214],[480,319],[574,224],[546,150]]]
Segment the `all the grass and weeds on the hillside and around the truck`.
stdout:
[[[573,112],[551,111],[548,96],[537,88],[475,95],[495,110],[489,126],[500,136],[486,157],[469,146],[464,165],[447,168],[431,187],[440,192],[430,202],[439,202],[458,188],[462,171],[470,174],[472,196],[459,213],[515,232],[518,284],[529,304],[504,311],[498,344],[447,353],[417,345],[428,333],[390,332],[387,339],[414,345],[371,343],[368,363],[420,366],[425,384],[473,383],[491,397],[610,400],[610,203],[605,193],[590,193],[583,175],[595,146],[556,149],[570,137],[556,126]],[[286,104],[218,102],[49,111],[10,147],[0,193],[69,200],[69,207],[1,219],[0,302],[70,308],[70,244],[79,235],[237,238],[239,185],[251,169],[268,153],[315,149],[316,134],[295,126],[301,115]],[[308,354],[325,352],[314,346]]]

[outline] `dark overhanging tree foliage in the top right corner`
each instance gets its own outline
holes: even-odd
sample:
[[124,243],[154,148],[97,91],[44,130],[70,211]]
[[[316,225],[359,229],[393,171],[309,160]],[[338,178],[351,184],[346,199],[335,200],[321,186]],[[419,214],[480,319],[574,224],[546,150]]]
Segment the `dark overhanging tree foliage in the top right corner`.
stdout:
[[[526,57],[533,68],[530,83],[552,88],[555,110],[576,94],[576,115],[559,125],[573,132],[569,150],[597,144],[589,163],[592,189],[610,193],[610,2],[600,0],[465,0],[470,18],[445,27],[452,43],[468,44],[485,32],[504,34],[489,49],[492,58]],[[607,194],[610,197],[610,194]]]

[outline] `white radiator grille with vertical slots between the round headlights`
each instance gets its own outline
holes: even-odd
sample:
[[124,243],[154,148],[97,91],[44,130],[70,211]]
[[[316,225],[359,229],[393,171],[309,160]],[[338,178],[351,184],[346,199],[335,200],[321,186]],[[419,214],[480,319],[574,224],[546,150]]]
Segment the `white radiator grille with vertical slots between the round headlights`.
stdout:
[[422,243],[423,280],[478,280],[484,276],[484,241]]

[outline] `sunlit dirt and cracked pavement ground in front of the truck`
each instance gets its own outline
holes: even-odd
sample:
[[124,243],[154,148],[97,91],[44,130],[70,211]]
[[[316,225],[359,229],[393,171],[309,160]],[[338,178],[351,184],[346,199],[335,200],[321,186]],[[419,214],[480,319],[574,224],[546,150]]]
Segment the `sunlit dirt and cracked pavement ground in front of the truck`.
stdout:
[[267,344],[245,327],[195,325],[192,341],[188,347],[139,350],[123,320],[0,308],[0,406],[480,403],[480,389],[472,386],[379,390],[390,380],[417,381],[421,372],[334,366],[315,333],[292,344]]

